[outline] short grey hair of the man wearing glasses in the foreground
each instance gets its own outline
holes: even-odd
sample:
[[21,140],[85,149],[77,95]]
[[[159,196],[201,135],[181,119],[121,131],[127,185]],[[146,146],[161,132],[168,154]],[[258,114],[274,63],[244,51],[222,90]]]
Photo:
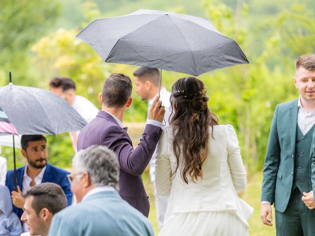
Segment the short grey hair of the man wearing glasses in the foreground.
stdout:
[[119,190],[120,167],[116,154],[105,146],[93,145],[80,150],[72,159],[72,167],[76,173],[87,172],[92,184],[96,186],[112,186]]

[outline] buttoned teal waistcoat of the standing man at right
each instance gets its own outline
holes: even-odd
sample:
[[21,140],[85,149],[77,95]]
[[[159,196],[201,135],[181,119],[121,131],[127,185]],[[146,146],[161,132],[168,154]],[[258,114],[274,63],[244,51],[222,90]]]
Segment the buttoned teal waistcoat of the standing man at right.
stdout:
[[293,189],[297,187],[301,193],[312,190],[310,149],[314,127],[315,125],[305,135],[303,135],[299,126],[296,128]]

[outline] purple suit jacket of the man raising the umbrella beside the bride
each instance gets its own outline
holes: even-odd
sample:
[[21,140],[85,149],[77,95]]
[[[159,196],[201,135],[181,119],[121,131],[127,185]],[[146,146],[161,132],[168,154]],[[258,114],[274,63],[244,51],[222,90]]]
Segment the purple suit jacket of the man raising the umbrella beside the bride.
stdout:
[[82,129],[77,142],[78,150],[103,145],[116,153],[121,168],[119,194],[147,217],[150,205],[141,175],[156,149],[161,131],[161,128],[147,124],[140,144],[133,149],[127,132],[111,115],[99,111],[96,118]]

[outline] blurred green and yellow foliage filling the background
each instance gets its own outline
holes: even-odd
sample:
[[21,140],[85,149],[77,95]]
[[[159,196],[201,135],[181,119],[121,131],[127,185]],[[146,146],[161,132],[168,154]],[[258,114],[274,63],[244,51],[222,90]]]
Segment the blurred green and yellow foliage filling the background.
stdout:
[[[233,38],[250,60],[249,65],[224,68],[199,78],[208,87],[209,107],[218,116],[219,122],[235,127],[243,161],[252,172],[262,168],[275,106],[298,96],[292,82],[294,59],[315,49],[314,9],[307,8],[312,1],[303,2],[203,0],[192,4],[188,0],[167,3],[144,0],[36,0],[22,2],[29,11],[26,13],[20,6],[5,0],[9,8],[0,9],[4,19],[0,22],[0,48],[8,46],[2,50],[4,57],[1,57],[0,78],[7,78],[7,69],[11,66],[17,71],[13,76],[16,75],[21,85],[48,89],[52,77],[70,77],[76,82],[77,93],[100,108],[98,93],[104,79],[114,72],[125,73],[132,78],[137,67],[104,63],[90,46],[75,37],[80,31],[78,27],[85,27],[97,18],[128,14],[139,6],[206,16],[224,35]],[[35,17],[29,17],[35,9],[33,4],[42,11],[36,11]],[[64,26],[63,29],[55,29],[52,25],[50,33],[45,34],[47,25],[54,22],[60,12],[63,17],[57,19],[57,25]],[[27,28],[29,31],[21,31],[19,24],[23,22],[25,26],[30,25]],[[34,43],[39,36],[41,38]],[[173,83],[183,76],[186,75],[163,71],[163,84],[170,90]],[[3,81],[2,84],[6,83]],[[125,121],[143,122],[147,116],[147,104],[135,92],[132,96],[133,104],[126,112]],[[63,167],[70,165],[74,153],[68,134],[47,138],[50,162]],[[11,155],[11,149],[2,150],[3,155]],[[23,161],[24,158],[19,156],[18,162]]]

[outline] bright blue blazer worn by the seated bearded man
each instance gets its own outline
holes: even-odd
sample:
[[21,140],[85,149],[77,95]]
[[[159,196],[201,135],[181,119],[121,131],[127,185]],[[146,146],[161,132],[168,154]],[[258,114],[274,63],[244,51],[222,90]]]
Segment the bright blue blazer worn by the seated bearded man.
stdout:
[[[23,192],[23,175],[25,171],[25,166],[16,169],[16,177],[18,180],[18,185]],[[56,183],[62,187],[65,196],[67,197],[67,205],[70,206],[72,203],[72,192],[70,190],[70,183],[68,181],[67,175],[69,172],[53,166],[49,163],[46,165],[46,170],[44,172],[42,183],[51,182]],[[14,171],[9,170],[6,174],[5,185],[9,188],[10,192],[14,191]],[[21,218],[23,214],[23,209],[13,206],[13,212]]]

